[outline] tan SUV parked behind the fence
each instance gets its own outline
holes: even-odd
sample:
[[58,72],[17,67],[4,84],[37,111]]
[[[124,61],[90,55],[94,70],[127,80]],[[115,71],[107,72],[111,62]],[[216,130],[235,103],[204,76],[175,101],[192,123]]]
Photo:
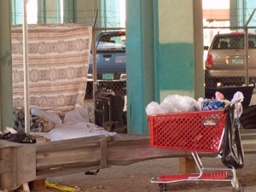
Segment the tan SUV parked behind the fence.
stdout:
[[[217,34],[212,39],[205,61],[206,87],[245,84],[246,49],[243,32]],[[256,34],[248,34],[248,74],[256,78]]]

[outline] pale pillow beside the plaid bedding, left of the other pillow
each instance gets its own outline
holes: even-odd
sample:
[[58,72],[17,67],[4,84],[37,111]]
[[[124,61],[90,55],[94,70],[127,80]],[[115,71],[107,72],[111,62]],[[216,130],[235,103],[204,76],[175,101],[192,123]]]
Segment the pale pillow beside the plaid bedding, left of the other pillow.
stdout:
[[41,110],[39,108],[32,108],[31,109],[31,113],[33,115],[37,115],[38,117],[43,118],[43,119],[53,123],[54,125],[62,124],[61,117],[59,116],[58,113],[46,112],[46,111],[43,111],[43,110]]

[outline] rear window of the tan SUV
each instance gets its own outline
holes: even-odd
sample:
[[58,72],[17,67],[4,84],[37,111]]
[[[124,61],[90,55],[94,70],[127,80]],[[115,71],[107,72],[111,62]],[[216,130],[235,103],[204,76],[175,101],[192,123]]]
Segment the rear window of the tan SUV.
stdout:
[[[255,48],[256,36],[248,37],[249,49]],[[212,49],[244,49],[243,35],[224,35],[215,38]]]

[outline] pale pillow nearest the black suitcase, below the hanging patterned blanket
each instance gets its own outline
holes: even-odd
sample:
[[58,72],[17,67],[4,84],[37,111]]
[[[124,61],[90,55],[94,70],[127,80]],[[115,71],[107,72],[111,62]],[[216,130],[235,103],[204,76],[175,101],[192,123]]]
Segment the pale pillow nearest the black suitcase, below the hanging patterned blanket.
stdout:
[[65,114],[63,123],[79,123],[87,122],[90,123],[90,113],[89,108],[84,106],[83,108],[74,108]]

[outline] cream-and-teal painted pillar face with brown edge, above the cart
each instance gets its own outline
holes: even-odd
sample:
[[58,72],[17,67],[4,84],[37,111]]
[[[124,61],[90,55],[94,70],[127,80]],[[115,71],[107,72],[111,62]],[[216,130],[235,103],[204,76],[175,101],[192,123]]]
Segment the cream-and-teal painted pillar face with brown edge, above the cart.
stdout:
[[[155,18],[155,91],[158,102],[177,94],[204,96],[201,1],[159,0]],[[196,91],[195,91],[196,90]]]

